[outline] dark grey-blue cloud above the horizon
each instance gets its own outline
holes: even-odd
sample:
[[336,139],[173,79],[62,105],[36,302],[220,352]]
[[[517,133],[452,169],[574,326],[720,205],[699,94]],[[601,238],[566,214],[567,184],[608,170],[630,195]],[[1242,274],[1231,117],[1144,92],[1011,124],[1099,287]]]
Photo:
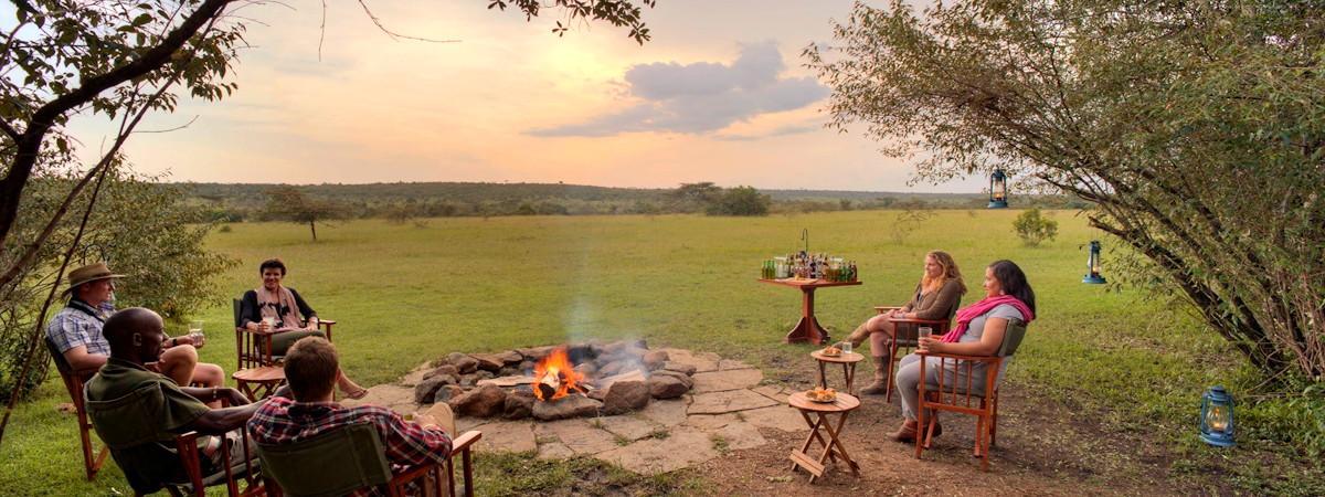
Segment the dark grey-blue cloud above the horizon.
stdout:
[[[639,99],[615,113],[527,131],[534,137],[611,137],[623,133],[702,134],[765,113],[795,110],[828,95],[814,78],[779,78],[786,69],[771,44],[747,45],[727,64],[653,62],[625,72]],[[783,130],[782,134],[786,134]]]

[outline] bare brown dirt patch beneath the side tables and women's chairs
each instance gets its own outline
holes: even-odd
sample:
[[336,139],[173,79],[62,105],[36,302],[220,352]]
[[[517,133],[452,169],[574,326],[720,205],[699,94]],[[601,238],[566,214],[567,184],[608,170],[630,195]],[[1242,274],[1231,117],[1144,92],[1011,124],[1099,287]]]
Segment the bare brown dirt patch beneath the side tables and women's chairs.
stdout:
[[[808,388],[794,382],[814,378],[800,368],[782,374],[783,384]],[[860,371],[868,383],[868,371]],[[779,378],[772,378],[774,380]],[[844,465],[829,464],[823,478],[812,485],[808,473],[791,470],[788,453],[804,441],[804,433],[763,429],[766,447],[733,451],[696,468],[705,480],[705,493],[714,496],[823,496],[823,494],[943,494],[943,496],[1080,496],[1080,494],[1190,494],[1208,489],[1183,489],[1166,481],[1171,457],[1142,436],[1105,435],[1071,407],[1030,399],[1026,388],[1004,388],[999,406],[998,445],[990,470],[982,472],[971,456],[975,417],[942,415],[943,435],[934,447],[916,459],[913,444],[892,441],[889,435],[902,423],[894,395],[892,404],[882,396],[864,396],[852,412],[843,441],[860,464],[856,477]],[[819,445],[811,445],[819,455]],[[1222,493],[1215,490],[1216,493]]]

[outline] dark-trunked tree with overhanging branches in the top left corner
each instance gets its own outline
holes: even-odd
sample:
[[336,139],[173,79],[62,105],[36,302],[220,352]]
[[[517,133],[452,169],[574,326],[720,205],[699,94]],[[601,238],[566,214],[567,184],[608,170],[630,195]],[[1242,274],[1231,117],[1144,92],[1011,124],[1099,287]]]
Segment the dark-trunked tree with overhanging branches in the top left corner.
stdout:
[[[52,266],[41,265],[41,254],[50,249],[48,244],[87,186],[122,160],[119,150],[142,118],[150,111],[175,109],[176,86],[209,101],[236,90],[225,78],[237,60],[236,48],[245,45],[248,21],[235,16],[235,9],[227,11],[248,4],[233,0],[12,4],[16,23],[0,33],[0,294],[29,285],[30,278],[58,284],[61,272],[49,273]],[[367,3],[359,4],[367,11]],[[539,0],[488,3],[489,9],[505,11],[507,5],[514,5],[526,21],[545,8]],[[655,1],[553,0],[546,7],[562,13],[553,28],[558,36],[566,34],[568,24],[603,21],[629,28],[628,36],[643,44],[649,30],[640,5],[653,7]],[[367,15],[378,21],[371,12]],[[115,139],[90,166],[77,160],[78,140],[65,127],[76,114],[119,119]],[[72,178],[72,188],[62,197],[33,207],[32,195],[25,192],[34,183],[66,176]],[[17,233],[20,220],[36,228]],[[28,337],[28,363],[38,331]],[[0,420],[0,436],[8,412]]]

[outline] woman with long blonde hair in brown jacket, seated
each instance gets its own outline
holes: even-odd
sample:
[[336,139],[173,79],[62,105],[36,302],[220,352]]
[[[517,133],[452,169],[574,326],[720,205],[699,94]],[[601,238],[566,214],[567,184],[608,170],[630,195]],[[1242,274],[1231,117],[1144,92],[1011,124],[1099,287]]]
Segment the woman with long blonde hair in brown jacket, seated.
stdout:
[[[947,252],[933,250],[925,254],[925,276],[916,285],[916,294],[901,309],[878,314],[851,333],[852,347],[869,338],[869,351],[874,357],[874,382],[860,390],[861,394],[880,395],[888,391],[888,370],[893,358],[889,357],[889,342],[896,330],[890,319],[947,319],[966,294],[962,272]],[[937,331],[937,330],[935,330]]]

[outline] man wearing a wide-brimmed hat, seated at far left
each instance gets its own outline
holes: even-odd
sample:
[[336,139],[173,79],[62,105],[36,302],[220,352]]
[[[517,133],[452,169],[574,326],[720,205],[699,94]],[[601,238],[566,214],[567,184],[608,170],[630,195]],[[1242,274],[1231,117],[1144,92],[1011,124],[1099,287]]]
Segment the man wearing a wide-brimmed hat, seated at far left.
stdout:
[[[106,318],[115,311],[115,274],[106,262],[89,264],[69,272],[69,304],[56,313],[46,326],[46,339],[77,371],[101,368],[110,357],[110,343],[102,335]],[[155,368],[180,386],[200,383],[220,387],[225,371],[217,364],[199,363],[197,347],[191,337],[167,338]]]

